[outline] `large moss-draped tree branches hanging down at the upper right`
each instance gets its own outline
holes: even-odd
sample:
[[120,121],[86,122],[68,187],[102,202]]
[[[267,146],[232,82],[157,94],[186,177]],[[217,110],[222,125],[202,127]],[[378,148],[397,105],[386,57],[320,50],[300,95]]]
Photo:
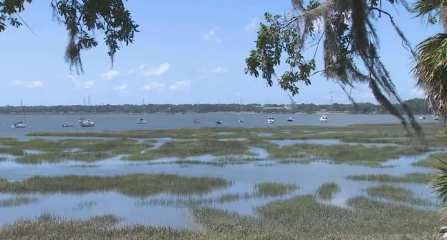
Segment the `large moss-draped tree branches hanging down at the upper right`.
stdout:
[[[417,85],[428,91],[428,86],[424,82],[429,79],[432,82],[439,82],[436,77],[446,75],[444,63],[446,51],[444,53],[439,51],[439,58],[443,59],[442,64],[437,67],[439,71],[444,72],[432,75],[430,69],[432,66],[428,63],[425,69],[419,67],[420,64],[425,64],[421,63],[424,59],[422,46],[427,46],[428,43],[419,46],[418,50],[422,53],[419,56],[393,20],[393,16],[383,10],[382,6],[401,5],[416,16],[429,14],[430,23],[436,23],[439,14],[433,11],[439,11],[444,2],[447,1],[418,0],[411,5],[406,0],[310,0],[305,5],[303,0],[292,0],[293,9],[285,16],[265,13],[265,23],[261,23],[255,47],[246,59],[246,74],[254,77],[261,75],[270,86],[276,79],[281,88],[294,95],[299,91],[298,84],[311,84],[311,77],[316,73],[322,73],[328,80],[340,84],[345,93],[355,84],[369,84],[375,99],[407,126],[406,118],[393,106],[393,103],[401,104],[409,123],[420,132],[415,117],[410,108],[403,104],[386,66],[380,60],[378,54],[380,36],[376,32],[375,23],[382,16],[389,19],[397,36],[402,38],[404,47],[415,60],[419,60],[415,68],[415,73],[419,77]],[[316,27],[317,23],[323,23],[320,30]],[[305,50],[312,46],[316,46],[316,49],[323,47],[322,70],[316,70],[317,50],[310,54],[310,58],[305,58]],[[275,67],[281,64],[283,58],[289,70],[278,76]],[[431,78],[422,78],[424,74]],[[439,84],[433,87],[439,87]],[[354,101],[350,96],[349,99]],[[445,119],[445,115],[441,117]]]

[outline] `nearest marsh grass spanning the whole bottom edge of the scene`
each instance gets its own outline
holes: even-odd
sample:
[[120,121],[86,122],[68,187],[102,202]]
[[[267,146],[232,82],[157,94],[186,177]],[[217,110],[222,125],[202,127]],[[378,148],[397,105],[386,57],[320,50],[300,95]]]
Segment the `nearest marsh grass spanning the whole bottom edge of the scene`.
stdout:
[[430,239],[438,226],[435,212],[387,204],[364,197],[351,198],[349,208],[322,204],[313,195],[274,201],[256,208],[256,215],[198,206],[193,217],[201,230],[153,226],[115,226],[113,215],[89,220],[44,215],[16,221],[0,229],[0,239]]

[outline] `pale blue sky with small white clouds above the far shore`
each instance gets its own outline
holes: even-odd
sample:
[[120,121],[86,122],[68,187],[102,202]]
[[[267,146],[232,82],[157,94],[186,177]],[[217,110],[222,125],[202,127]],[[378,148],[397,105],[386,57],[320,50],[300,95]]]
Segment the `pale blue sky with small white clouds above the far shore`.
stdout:
[[[386,4],[388,5],[388,3]],[[264,12],[283,14],[290,0],[246,1],[129,1],[133,19],[140,24],[135,43],[116,54],[114,67],[102,36],[100,45],[82,54],[85,74],[70,73],[63,60],[67,43],[65,27],[52,21],[50,1],[34,1],[21,15],[32,27],[9,27],[1,33],[0,106],[82,104],[189,104],[278,103],[290,100],[279,86],[245,75],[245,58],[254,47],[259,20]],[[413,19],[401,6],[387,6],[413,45],[440,32]],[[422,97],[414,89],[411,59],[383,16],[378,25],[381,58],[403,99]],[[313,51],[312,51],[313,53]],[[321,69],[320,58],[317,69]],[[280,67],[279,70],[285,69]],[[338,85],[316,75],[294,97],[298,103],[348,102]],[[367,86],[352,91],[356,101],[375,102]]]

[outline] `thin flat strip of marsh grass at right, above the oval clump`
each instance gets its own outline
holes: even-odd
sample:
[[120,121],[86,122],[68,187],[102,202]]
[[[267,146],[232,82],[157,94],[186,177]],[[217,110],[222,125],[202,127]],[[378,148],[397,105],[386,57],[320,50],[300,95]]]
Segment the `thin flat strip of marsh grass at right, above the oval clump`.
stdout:
[[371,182],[414,182],[428,184],[431,180],[430,173],[408,173],[404,176],[393,176],[389,174],[356,174],[345,176],[344,178],[355,181]]

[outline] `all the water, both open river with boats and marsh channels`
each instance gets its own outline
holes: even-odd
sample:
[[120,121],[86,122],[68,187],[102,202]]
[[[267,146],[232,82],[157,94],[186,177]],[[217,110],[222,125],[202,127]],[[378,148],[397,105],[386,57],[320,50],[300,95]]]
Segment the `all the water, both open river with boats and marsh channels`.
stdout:
[[[12,129],[8,122],[17,119],[17,116],[1,117],[5,124],[0,127],[2,137],[12,136],[23,138],[23,134],[33,131],[103,131],[103,130],[137,130],[137,129],[159,129],[159,128],[187,128],[199,126],[215,126],[214,121],[217,118],[226,122],[225,125],[238,126],[246,125],[248,127],[262,127],[268,125],[265,120],[268,115],[244,115],[245,123],[237,123],[237,115],[148,115],[147,125],[137,125],[135,123],[138,115],[98,115],[94,120],[98,122],[95,128],[61,128],[59,127],[65,121],[76,123],[78,116],[34,115],[28,117],[28,123],[32,126],[28,129]],[[295,121],[289,123],[285,121],[287,115],[275,115],[275,125],[323,125],[319,123],[319,115],[294,115]],[[198,125],[192,123],[192,119],[200,118]],[[389,115],[329,115],[329,124],[324,125],[348,125],[354,123],[397,123],[397,119]],[[430,116],[427,119],[431,119]],[[431,121],[431,120],[426,120]],[[223,125],[223,126],[225,126]],[[66,138],[63,138],[66,139]],[[160,146],[166,141],[172,139],[160,139],[155,146]],[[333,139],[319,140],[300,140],[300,141],[275,141],[279,145],[292,144],[321,144],[336,145],[340,142]],[[350,143],[362,144],[362,143]],[[374,144],[367,143],[371,146]],[[380,144],[378,144],[380,145]],[[96,176],[114,176],[116,174],[128,173],[175,173],[183,176],[212,176],[225,178],[232,181],[232,186],[228,189],[221,189],[209,193],[206,197],[217,197],[226,193],[253,193],[254,184],[257,182],[284,182],[298,184],[300,189],[295,193],[283,197],[254,197],[249,200],[240,200],[224,204],[213,203],[211,206],[237,211],[241,214],[252,215],[253,208],[268,203],[274,199],[287,199],[298,194],[315,193],[316,189],[325,182],[336,182],[340,185],[341,191],[338,193],[331,204],[340,206],[345,205],[349,197],[365,195],[364,189],[370,186],[376,186],[379,182],[362,182],[345,180],[343,177],[350,174],[369,174],[383,173],[392,175],[403,175],[413,172],[427,172],[430,169],[423,167],[413,167],[411,163],[422,160],[428,154],[420,156],[408,156],[389,160],[383,166],[393,165],[395,167],[373,168],[365,166],[335,165],[325,162],[316,162],[300,165],[282,165],[275,159],[268,158],[268,154],[263,150],[253,147],[252,152],[258,154],[257,158],[265,158],[257,163],[247,163],[245,165],[227,165],[226,167],[217,167],[212,165],[174,165],[169,161],[175,159],[158,160],[162,163],[151,165],[148,162],[128,162],[113,158],[102,160],[98,163],[92,163],[98,167],[81,167],[82,163],[58,163],[41,165],[20,165],[14,161],[0,162],[0,178],[8,180],[24,180],[32,176],[60,176],[60,175],[96,175]],[[190,160],[210,161],[215,160],[212,156],[198,156],[189,158]],[[406,187],[415,191],[422,198],[433,199],[430,189],[425,184],[406,184],[389,183],[395,186]],[[11,197],[10,194],[0,193],[0,200]],[[187,226],[194,228],[196,224],[190,219],[189,209],[183,206],[164,206],[157,204],[141,204],[148,200],[178,200],[182,197],[166,194],[154,195],[151,197],[129,197],[113,191],[105,193],[88,193],[82,195],[55,194],[41,195],[30,194],[30,196],[39,197],[39,202],[25,206],[15,206],[8,208],[0,207],[0,225],[8,224],[16,219],[32,218],[42,213],[54,213],[63,217],[88,218],[91,215],[102,215],[107,213],[116,214],[123,217],[123,224],[140,223],[153,224],[160,226]],[[186,196],[191,197],[191,196]],[[436,206],[428,208],[435,209]]]

